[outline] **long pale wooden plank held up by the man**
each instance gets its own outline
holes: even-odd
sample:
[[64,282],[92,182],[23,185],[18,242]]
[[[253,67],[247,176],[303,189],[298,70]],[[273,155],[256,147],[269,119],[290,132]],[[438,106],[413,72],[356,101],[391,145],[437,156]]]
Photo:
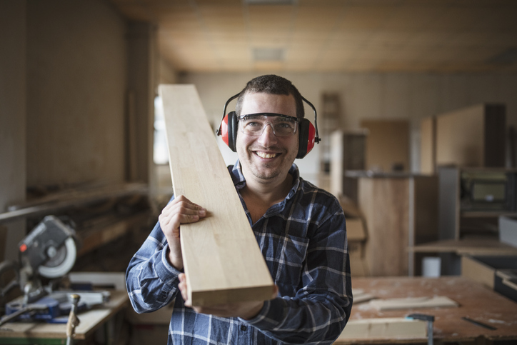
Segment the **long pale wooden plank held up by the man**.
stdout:
[[193,85],[161,85],[174,195],[209,216],[181,226],[193,305],[269,299],[273,280]]

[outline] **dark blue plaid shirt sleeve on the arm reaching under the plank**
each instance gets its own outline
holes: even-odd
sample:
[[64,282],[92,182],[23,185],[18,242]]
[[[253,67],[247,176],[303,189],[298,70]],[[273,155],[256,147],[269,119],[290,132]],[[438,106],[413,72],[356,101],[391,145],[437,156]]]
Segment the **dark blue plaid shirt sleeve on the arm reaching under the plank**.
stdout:
[[288,344],[332,344],[352,307],[348,259],[345,216],[339,207],[309,240],[303,286],[296,296],[266,301],[254,319],[241,321]]

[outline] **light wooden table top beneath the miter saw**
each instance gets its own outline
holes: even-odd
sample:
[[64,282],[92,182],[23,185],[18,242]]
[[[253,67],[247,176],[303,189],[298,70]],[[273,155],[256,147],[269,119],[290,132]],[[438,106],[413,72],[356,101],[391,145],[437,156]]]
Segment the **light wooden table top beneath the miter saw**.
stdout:
[[[76,327],[75,339],[86,339],[86,336],[129,303],[126,291],[110,292],[110,301],[104,306],[77,314],[81,323]],[[66,324],[8,322],[0,328],[0,339],[6,338],[66,339]]]

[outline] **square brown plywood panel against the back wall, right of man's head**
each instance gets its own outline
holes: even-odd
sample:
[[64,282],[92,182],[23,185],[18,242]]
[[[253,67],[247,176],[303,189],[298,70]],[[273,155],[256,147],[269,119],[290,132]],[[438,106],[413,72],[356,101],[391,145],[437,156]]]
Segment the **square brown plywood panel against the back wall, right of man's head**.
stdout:
[[409,166],[409,122],[406,120],[363,120],[368,129],[366,169],[391,171],[393,164]]

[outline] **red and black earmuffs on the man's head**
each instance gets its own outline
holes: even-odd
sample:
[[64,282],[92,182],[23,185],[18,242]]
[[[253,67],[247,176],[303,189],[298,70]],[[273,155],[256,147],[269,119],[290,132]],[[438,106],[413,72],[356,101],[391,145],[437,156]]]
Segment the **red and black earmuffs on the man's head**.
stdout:
[[[240,93],[239,93],[240,94]],[[237,118],[237,114],[235,111],[230,111],[228,115],[226,115],[226,107],[228,104],[239,97],[239,94],[235,96],[231,96],[226,104],[224,104],[223,109],[223,117],[221,119],[221,124],[219,125],[219,129],[217,129],[216,134],[221,136],[224,143],[228,145],[231,151],[236,152],[236,141],[237,141],[237,131],[239,130],[239,119]],[[318,136],[318,124],[316,122],[317,114],[316,108],[312,105],[311,102],[307,101],[303,96],[301,97],[306,104],[311,106],[314,111],[314,127],[311,124],[311,121],[308,119],[301,119],[298,124],[298,154],[296,154],[297,159],[302,159],[305,157],[314,147],[314,143],[318,144],[321,139]]]

